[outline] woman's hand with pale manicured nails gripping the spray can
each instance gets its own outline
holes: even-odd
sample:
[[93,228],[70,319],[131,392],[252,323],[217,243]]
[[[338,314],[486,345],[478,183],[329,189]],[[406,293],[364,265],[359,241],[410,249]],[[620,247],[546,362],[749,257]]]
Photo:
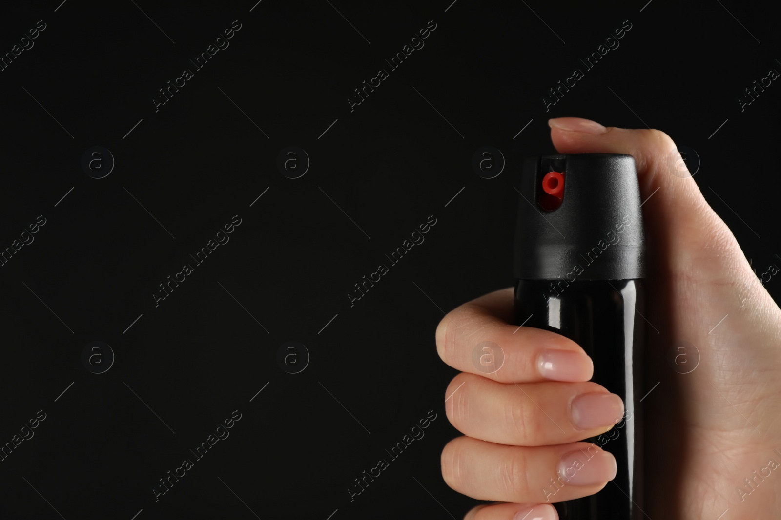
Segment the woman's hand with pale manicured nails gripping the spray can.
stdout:
[[[632,154],[637,163],[646,201],[646,318],[655,329],[646,347],[648,390],[659,381],[643,402],[645,514],[779,518],[781,310],[697,184],[676,169],[669,136],[576,118],[550,125],[561,153]],[[437,327],[440,357],[463,371],[445,391],[448,419],[465,434],[444,447],[445,482],[504,502],[474,508],[469,520],[555,519],[550,502],[596,493],[615,476],[615,459],[600,450],[555,494],[544,491],[556,489],[550,479],[572,465],[569,454],[595,451],[578,441],[612,428],[624,408],[618,395],[588,381],[593,366],[580,346],[510,324],[512,305],[512,288],[502,289],[451,311]],[[487,341],[505,355],[495,373],[473,363]],[[691,366],[698,360],[696,370],[669,363],[683,342],[694,346],[686,357]]]

